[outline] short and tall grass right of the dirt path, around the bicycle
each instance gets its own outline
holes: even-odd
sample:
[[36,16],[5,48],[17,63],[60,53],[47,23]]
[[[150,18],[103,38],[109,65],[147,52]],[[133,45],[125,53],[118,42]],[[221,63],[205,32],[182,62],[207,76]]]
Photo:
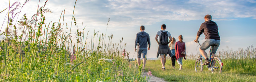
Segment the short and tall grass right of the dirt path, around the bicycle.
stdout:
[[[238,51],[219,51],[223,64],[222,73],[212,73],[203,67],[202,72],[195,72],[194,64],[196,54],[189,54],[187,60],[183,59],[183,70],[179,70],[176,61],[175,69],[171,66],[171,59],[166,61],[166,70],[162,71],[160,60],[147,60],[146,70],[150,69],[152,75],[164,78],[165,81],[172,82],[254,82],[256,79],[256,48],[253,46]],[[203,59],[204,61],[204,59]]]

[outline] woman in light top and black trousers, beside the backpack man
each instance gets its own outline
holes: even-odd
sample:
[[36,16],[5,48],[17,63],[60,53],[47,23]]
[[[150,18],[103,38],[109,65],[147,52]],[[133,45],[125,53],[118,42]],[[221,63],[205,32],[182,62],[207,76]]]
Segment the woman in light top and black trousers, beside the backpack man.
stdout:
[[171,54],[169,56],[171,57],[172,60],[172,67],[175,68],[175,61],[176,61],[176,56],[175,56],[175,38],[172,38],[171,43],[169,44],[169,48],[171,49]]

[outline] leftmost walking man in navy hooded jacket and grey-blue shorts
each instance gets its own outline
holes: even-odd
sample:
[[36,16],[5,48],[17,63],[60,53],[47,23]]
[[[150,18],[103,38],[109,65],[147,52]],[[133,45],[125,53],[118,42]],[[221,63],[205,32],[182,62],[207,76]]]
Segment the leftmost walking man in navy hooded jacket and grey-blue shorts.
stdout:
[[[147,46],[149,44],[149,48],[147,49]],[[150,39],[149,34],[145,32],[145,27],[141,26],[141,32],[138,32],[136,34],[135,39],[135,51],[136,46],[138,45],[138,65],[141,65],[141,55],[143,55],[143,70],[145,70],[146,65],[146,55],[147,51],[150,49]]]

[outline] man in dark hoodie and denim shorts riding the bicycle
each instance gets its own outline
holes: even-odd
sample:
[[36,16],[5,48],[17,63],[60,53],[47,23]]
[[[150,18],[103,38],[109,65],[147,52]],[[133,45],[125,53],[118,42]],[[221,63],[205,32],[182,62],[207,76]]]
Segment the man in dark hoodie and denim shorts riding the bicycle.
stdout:
[[208,49],[210,46],[215,45],[216,47],[213,47],[212,49],[212,55],[215,56],[215,53],[220,46],[220,35],[219,35],[219,28],[218,25],[212,21],[212,16],[207,14],[204,16],[205,22],[203,22],[199,28],[199,31],[197,32],[196,39],[194,42],[198,42],[198,39],[202,33],[205,35],[205,41],[199,48],[199,51],[201,55],[205,58],[205,61],[202,65],[208,65],[210,63],[210,60],[207,56],[207,53],[205,52],[206,49]]

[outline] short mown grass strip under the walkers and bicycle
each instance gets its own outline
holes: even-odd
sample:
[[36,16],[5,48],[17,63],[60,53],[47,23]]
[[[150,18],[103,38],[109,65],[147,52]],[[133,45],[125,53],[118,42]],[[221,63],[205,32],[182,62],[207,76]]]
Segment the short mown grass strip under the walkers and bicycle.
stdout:
[[[175,69],[171,66],[171,60],[167,60],[165,67],[166,70],[161,70],[160,60],[147,60],[146,70],[150,69],[152,75],[156,77],[163,78],[167,82],[178,81],[178,82],[202,82],[202,81],[213,81],[213,82],[222,82],[222,81],[242,81],[242,82],[253,82],[256,80],[255,74],[235,72],[232,70],[226,70],[223,68],[221,74],[214,73],[212,74],[206,66],[203,68],[203,72],[194,71],[194,60],[183,60],[183,70],[179,70],[179,65],[176,62]],[[224,62],[225,63],[225,62]],[[225,65],[225,64],[224,64]],[[252,71],[254,72],[254,71]],[[255,73],[255,72],[254,72]]]

